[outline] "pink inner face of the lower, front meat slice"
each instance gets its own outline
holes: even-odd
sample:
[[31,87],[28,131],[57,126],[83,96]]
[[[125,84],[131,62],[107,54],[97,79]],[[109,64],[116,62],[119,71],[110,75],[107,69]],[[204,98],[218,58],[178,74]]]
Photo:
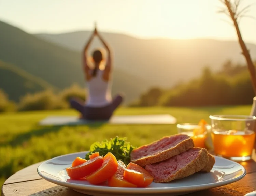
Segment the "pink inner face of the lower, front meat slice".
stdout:
[[196,159],[196,157],[199,156],[200,150],[200,148],[191,148],[170,159],[152,165],[146,165],[145,169],[150,172],[155,179],[167,179]]

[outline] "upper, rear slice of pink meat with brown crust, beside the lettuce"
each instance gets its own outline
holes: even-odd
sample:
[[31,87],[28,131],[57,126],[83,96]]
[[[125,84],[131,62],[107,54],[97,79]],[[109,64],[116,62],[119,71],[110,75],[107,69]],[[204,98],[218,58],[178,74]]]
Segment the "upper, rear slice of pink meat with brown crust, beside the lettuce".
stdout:
[[194,142],[188,135],[176,134],[163,137],[151,144],[141,146],[131,152],[131,162],[145,167],[193,148]]

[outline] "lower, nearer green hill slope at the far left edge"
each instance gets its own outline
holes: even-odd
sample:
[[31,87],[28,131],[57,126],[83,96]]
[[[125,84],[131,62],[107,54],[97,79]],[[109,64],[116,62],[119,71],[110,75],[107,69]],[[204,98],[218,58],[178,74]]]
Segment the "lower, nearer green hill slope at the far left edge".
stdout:
[[0,61],[0,89],[9,95],[9,99],[19,101],[19,96],[45,89],[57,90],[48,82],[19,69],[15,65]]

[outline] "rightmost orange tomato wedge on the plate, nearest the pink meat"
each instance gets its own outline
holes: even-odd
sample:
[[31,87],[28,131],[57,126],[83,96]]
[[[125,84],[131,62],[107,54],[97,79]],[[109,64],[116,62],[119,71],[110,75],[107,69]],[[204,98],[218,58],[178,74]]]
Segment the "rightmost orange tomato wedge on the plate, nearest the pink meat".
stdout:
[[138,187],[147,187],[154,180],[150,173],[135,163],[129,163],[124,172],[124,179]]

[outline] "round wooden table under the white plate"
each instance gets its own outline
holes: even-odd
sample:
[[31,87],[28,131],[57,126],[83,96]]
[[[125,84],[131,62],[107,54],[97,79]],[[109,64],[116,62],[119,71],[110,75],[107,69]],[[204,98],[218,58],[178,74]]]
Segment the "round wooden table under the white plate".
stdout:
[[[26,167],[10,178],[2,186],[2,196],[27,196],[27,195],[49,195],[49,196],[85,196],[84,194],[73,191],[63,186],[58,186],[42,179],[37,174],[37,163]],[[253,159],[247,162],[240,162],[247,171],[247,174],[238,182],[221,186],[213,189],[199,191],[186,196],[243,196],[248,192],[256,190],[256,154],[253,153]]]

